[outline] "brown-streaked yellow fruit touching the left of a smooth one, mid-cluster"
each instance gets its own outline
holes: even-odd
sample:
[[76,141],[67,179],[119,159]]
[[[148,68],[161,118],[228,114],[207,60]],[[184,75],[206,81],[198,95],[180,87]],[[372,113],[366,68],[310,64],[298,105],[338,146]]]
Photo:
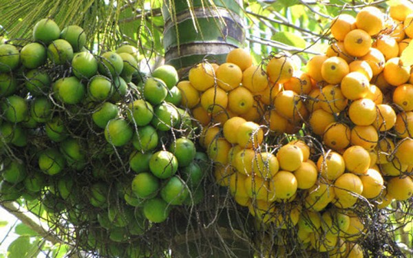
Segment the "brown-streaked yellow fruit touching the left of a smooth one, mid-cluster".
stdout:
[[257,153],[253,159],[253,172],[261,178],[273,178],[279,171],[277,157],[271,152]]

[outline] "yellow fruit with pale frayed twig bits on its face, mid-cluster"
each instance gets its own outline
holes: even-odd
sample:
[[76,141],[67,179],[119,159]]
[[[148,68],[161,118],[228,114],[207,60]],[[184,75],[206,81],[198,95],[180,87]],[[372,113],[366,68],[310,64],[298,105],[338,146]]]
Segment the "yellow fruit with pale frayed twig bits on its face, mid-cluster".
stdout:
[[244,148],[257,148],[264,140],[264,131],[255,122],[244,122],[238,127],[237,142]]

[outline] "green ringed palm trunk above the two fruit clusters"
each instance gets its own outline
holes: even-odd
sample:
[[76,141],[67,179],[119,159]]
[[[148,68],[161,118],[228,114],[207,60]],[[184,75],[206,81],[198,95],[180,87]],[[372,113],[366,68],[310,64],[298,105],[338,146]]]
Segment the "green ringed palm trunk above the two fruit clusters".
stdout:
[[[189,4],[191,6],[189,6]],[[162,8],[165,63],[180,75],[204,58],[224,63],[226,54],[245,42],[240,0],[175,0]]]

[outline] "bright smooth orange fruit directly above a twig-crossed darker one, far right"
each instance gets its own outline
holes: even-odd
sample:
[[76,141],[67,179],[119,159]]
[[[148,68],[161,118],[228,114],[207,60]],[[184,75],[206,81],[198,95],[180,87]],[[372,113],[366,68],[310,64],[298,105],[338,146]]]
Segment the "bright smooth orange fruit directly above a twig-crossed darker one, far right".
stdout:
[[372,125],[377,118],[377,108],[373,100],[360,98],[348,107],[348,117],[354,125]]

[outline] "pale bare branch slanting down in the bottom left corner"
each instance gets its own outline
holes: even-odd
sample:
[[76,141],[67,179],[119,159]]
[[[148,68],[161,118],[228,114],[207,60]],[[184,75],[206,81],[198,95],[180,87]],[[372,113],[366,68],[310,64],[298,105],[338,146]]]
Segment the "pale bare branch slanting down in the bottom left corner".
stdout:
[[43,225],[41,225],[41,223],[39,222],[39,217],[36,217],[36,215],[33,215],[29,211],[21,208],[16,202],[2,202],[0,205],[3,206],[6,211],[14,215],[14,217],[17,217],[17,219],[23,222],[23,224],[34,230],[36,233],[39,233],[41,237],[43,237],[47,241],[50,241],[53,245],[67,244],[63,243],[63,241],[56,235],[53,235],[52,233],[47,231],[47,229],[44,228]]

